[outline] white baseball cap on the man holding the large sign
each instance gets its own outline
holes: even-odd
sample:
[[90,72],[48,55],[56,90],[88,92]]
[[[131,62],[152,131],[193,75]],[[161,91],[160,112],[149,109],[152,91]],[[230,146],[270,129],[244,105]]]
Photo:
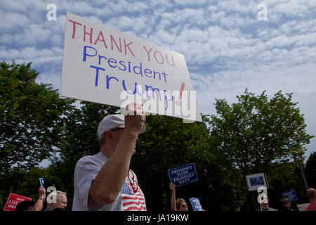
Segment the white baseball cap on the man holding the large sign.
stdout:
[[[106,117],[101,120],[98,131],[97,137],[100,139],[100,136],[109,129],[115,128],[124,128],[125,127],[125,117],[121,114],[114,114],[114,115],[107,115]],[[143,134],[146,130],[145,124],[143,124],[142,129],[140,130],[140,134]]]

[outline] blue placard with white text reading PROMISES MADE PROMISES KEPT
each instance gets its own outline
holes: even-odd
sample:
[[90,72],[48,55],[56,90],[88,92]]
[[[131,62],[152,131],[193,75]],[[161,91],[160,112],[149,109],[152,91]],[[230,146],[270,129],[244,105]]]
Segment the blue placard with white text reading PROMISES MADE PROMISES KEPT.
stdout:
[[168,174],[171,183],[176,184],[177,187],[197,181],[197,171],[194,163],[169,169]]

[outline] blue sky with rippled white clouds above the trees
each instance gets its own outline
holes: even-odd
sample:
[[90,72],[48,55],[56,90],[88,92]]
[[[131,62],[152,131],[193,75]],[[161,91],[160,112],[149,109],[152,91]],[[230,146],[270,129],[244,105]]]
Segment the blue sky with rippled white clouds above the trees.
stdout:
[[[48,4],[56,20],[46,18]],[[203,114],[246,88],[293,92],[316,136],[315,0],[0,0],[0,60],[32,61],[37,82],[60,89],[67,11],[182,53]],[[308,157],[316,138],[306,148]]]

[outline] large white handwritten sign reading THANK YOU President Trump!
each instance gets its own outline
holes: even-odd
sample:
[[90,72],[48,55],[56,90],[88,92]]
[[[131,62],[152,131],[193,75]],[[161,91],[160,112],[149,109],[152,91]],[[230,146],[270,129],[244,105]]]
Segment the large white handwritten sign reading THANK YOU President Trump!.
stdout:
[[202,122],[182,54],[67,13],[60,96]]

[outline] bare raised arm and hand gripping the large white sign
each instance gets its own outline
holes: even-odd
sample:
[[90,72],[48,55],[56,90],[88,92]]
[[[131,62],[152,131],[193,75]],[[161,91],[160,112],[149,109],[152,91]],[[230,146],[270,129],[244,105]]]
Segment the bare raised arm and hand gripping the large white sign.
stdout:
[[[129,115],[125,116],[125,128],[114,152],[91,184],[89,195],[96,203],[105,205],[114,202],[129,173],[138,134],[146,121],[142,106],[133,104],[126,107],[126,111],[133,108],[133,112],[129,111]],[[114,141],[112,132],[106,132],[107,141]]]

